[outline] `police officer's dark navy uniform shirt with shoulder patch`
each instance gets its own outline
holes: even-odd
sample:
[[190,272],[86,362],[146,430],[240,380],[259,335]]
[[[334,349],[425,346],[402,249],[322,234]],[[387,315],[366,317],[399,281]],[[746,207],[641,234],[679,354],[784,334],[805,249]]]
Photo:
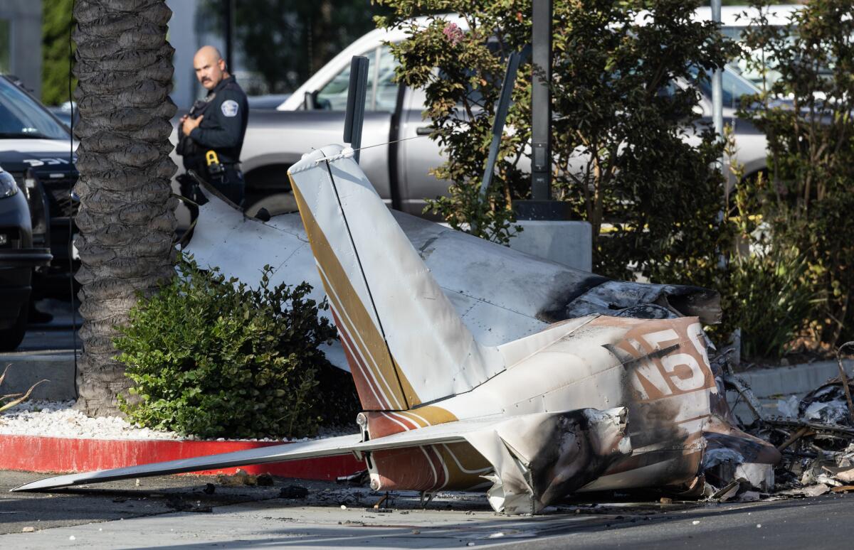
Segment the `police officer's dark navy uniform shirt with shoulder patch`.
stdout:
[[[203,151],[213,149],[220,164],[240,162],[243,136],[249,120],[249,101],[233,76],[223,78],[205,98],[207,105],[201,109],[202,122],[190,131],[190,138]],[[203,155],[204,153],[202,153]]]

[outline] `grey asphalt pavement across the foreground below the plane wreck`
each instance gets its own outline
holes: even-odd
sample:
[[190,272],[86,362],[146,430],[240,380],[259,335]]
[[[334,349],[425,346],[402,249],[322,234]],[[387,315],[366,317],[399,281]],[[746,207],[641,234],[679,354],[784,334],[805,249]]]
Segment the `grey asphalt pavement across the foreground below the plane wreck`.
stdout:
[[[847,546],[854,536],[850,495],[740,504],[587,497],[518,517],[494,513],[481,494],[442,494],[422,508],[413,492],[380,502],[366,488],[279,478],[268,487],[174,476],[8,492],[41,477],[0,472],[0,547],[782,549]],[[294,486],[308,495],[280,496]]]

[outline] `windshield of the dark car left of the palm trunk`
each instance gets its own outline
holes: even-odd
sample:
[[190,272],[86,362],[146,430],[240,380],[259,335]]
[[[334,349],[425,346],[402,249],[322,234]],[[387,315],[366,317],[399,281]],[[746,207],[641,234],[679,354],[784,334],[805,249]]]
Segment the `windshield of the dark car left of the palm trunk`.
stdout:
[[37,101],[0,78],[0,138],[68,139],[68,131]]

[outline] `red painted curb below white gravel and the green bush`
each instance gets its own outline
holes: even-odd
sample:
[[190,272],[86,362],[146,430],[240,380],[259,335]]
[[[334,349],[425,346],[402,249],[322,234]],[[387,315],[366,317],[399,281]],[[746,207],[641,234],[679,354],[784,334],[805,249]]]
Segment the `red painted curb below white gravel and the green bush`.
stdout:
[[[0,470],[70,473],[138,466],[206,454],[230,453],[279,445],[270,441],[184,441],[173,439],[74,439],[0,434]],[[335,479],[365,469],[353,454],[318,459],[240,466],[244,472],[268,472],[283,478]],[[194,473],[233,473],[237,468]]]

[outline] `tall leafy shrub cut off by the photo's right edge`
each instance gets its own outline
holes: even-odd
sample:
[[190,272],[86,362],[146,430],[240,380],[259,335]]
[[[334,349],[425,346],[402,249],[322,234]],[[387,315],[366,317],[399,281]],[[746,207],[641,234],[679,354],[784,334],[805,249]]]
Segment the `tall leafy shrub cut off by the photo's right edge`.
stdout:
[[[812,338],[834,345],[854,335],[854,5],[806,3],[789,24],[769,26],[768,3],[744,41],[781,74],[742,116],[768,136],[769,185],[759,190],[771,246],[803,254],[806,284],[826,299],[810,316]],[[777,98],[786,98],[779,101]]]

